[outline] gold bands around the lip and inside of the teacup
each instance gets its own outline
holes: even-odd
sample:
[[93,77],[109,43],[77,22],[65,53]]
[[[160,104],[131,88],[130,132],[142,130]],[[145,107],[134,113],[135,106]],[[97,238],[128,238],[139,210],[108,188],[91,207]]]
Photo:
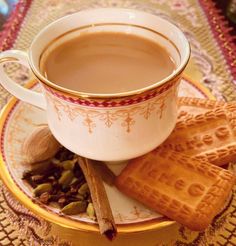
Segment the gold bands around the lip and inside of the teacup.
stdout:
[[[173,23],[171,23],[172,25],[174,25]],[[134,24],[127,24],[127,23],[98,23],[98,24],[94,24],[94,25],[86,25],[86,26],[82,26],[82,27],[79,27],[79,28],[75,28],[73,30],[70,30],[66,33],[63,33],[62,35],[56,37],[55,39],[53,39],[51,42],[49,42],[47,44],[47,46],[44,48],[43,52],[41,53],[40,55],[40,61],[39,61],[39,66],[40,66],[40,62],[41,62],[41,58],[42,58],[42,55],[43,53],[45,52],[45,50],[52,44],[54,43],[55,41],[57,41],[58,39],[60,39],[61,37],[69,34],[69,33],[72,33],[72,32],[75,32],[75,31],[78,31],[78,30],[83,30],[83,29],[86,29],[86,28],[89,28],[89,27],[95,27],[95,26],[106,26],[106,25],[122,25],[122,26],[132,26],[132,27],[138,27],[138,28],[141,28],[141,29],[145,29],[145,30],[148,30],[150,32],[153,32],[161,37],[163,37],[164,39],[166,39],[168,42],[170,42],[176,49],[176,51],[179,53],[180,55],[180,51],[179,49],[177,48],[177,46],[173,43],[173,41],[171,41],[169,38],[167,38],[165,35],[163,35],[162,33],[159,33],[157,31],[154,31],[153,29],[151,28],[147,28],[147,27],[143,27],[143,26],[140,26],[140,25],[134,25]],[[175,26],[175,25],[174,25]],[[178,28],[176,26],[176,28]],[[179,28],[178,28],[179,29]],[[180,29],[179,29],[180,30]],[[43,84],[45,84],[46,86],[48,87],[51,87],[57,91],[60,91],[62,93],[66,93],[66,94],[69,94],[69,95],[73,95],[73,96],[77,96],[77,97],[80,97],[80,98],[89,98],[89,99],[118,99],[118,98],[126,98],[126,97],[130,97],[130,96],[135,96],[135,95],[139,95],[141,93],[144,93],[144,92],[147,92],[147,91],[150,91],[150,90],[154,90],[158,87],[160,87],[161,85],[165,84],[165,83],[168,83],[170,81],[173,81],[175,80],[178,76],[180,76],[185,67],[187,66],[188,64],[188,61],[190,59],[190,54],[191,54],[191,47],[190,47],[190,44],[189,44],[189,41],[187,40],[186,38],[186,44],[187,44],[187,47],[186,49],[188,50],[188,56],[185,58],[186,60],[180,64],[180,66],[178,66],[176,68],[176,70],[171,73],[169,76],[167,76],[165,79],[162,79],[160,81],[157,81],[157,82],[154,82],[153,84],[147,86],[147,87],[144,87],[144,88],[141,88],[141,89],[137,89],[137,90],[133,90],[133,91],[128,91],[128,92],[121,92],[121,93],[109,93],[109,94],[97,94],[97,93],[86,93],[86,92],[79,92],[79,91],[75,91],[75,90],[71,90],[71,89],[67,89],[67,88],[64,88],[64,87],[61,87],[57,84],[54,84],[53,82],[51,82],[50,80],[48,80],[47,78],[45,78],[39,71],[38,69],[35,68],[34,64],[31,62],[32,60],[32,53],[29,52],[29,66],[31,68],[31,70],[33,71],[35,77],[41,81]]]

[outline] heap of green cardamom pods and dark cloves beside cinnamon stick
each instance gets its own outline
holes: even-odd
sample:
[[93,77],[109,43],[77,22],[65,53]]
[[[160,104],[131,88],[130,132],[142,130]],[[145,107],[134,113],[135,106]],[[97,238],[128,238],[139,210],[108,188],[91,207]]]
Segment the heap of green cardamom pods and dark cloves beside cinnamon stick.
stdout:
[[70,215],[91,210],[87,210],[91,202],[88,185],[77,158],[73,158],[73,153],[61,148],[55,157],[32,165],[22,177],[34,188],[40,202],[56,205]]

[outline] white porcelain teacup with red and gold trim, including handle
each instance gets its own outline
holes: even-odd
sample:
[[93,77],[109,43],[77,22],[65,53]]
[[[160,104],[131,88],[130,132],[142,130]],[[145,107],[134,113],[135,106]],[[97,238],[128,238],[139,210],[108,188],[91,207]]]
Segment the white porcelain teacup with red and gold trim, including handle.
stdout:
[[[114,94],[81,93],[47,80],[39,69],[45,48],[65,33],[126,32],[155,40],[170,53],[176,70],[151,86]],[[68,38],[70,35],[66,35]],[[177,90],[190,56],[184,34],[160,17],[130,9],[93,9],[65,16],[45,27],[29,53],[0,54],[0,82],[17,98],[45,109],[49,127],[69,150],[87,158],[121,161],[143,155],[160,145],[177,118]],[[16,61],[30,67],[43,94],[25,89],[4,72],[3,64]]]

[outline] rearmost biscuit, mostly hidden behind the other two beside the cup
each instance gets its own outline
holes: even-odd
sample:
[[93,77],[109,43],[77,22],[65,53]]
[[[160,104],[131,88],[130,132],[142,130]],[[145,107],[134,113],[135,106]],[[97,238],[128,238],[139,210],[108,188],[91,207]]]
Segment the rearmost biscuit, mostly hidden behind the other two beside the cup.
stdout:
[[210,99],[193,98],[193,97],[179,97],[178,119],[183,119],[188,115],[202,114],[216,107],[225,107],[226,105],[227,103],[224,101],[215,101]]

